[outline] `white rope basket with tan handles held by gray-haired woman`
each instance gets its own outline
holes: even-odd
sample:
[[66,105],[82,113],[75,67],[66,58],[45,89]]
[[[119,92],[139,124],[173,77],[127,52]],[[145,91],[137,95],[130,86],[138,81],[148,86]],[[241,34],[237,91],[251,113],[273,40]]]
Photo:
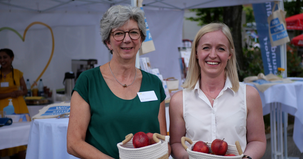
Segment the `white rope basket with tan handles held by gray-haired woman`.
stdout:
[[168,159],[169,136],[153,134],[155,144],[135,148],[132,144],[133,134],[128,134],[121,143],[117,144],[120,159]]

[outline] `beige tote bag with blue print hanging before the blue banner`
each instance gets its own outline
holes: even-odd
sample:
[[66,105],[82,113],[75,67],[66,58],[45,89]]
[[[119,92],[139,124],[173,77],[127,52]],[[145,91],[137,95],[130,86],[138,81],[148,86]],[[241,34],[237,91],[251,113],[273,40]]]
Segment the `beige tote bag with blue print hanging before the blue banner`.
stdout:
[[267,18],[271,47],[282,45],[290,41],[286,30],[286,12],[281,10],[279,5],[278,10],[275,11],[276,5],[278,5],[278,2],[275,2],[272,7],[272,14]]

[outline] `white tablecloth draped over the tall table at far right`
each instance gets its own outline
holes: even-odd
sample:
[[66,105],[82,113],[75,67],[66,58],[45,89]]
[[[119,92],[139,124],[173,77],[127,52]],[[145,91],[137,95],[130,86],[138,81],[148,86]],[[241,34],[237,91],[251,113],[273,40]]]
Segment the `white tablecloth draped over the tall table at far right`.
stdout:
[[[295,78],[291,78],[295,79]],[[303,79],[303,78],[297,78]],[[247,83],[254,86],[251,83]],[[256,87],[255,87],[256,88]],[[303,152],[303,81],[277,84],[260,92],[263,115],[270,113],[271,103],[281,103],[282,111],[295,116],[293,139],[298,149]]]

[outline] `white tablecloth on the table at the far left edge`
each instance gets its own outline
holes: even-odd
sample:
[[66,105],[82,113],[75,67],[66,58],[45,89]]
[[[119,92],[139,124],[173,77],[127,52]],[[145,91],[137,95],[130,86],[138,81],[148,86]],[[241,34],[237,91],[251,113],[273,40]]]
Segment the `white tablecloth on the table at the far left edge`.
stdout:
[[0,127],[0,150],[27,145],[30,122],[15,122]]

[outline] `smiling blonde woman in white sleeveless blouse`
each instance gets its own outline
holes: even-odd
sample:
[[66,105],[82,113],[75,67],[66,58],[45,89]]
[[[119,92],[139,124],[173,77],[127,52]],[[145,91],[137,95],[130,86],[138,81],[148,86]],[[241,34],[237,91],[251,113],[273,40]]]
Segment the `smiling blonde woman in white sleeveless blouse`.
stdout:
[[252,159],[266,149],[258,91],[238,80],[231,31],[223,23],[203,26],[195,36],[182,91],[169,104],[171,155],[188,158],[181,137],[192,141],[224,139]]

